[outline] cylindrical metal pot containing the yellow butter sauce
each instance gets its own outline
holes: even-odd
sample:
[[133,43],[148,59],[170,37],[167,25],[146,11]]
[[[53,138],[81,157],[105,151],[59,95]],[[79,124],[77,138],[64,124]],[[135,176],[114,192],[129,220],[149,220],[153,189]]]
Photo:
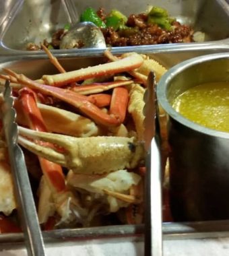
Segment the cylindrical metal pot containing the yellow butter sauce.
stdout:
[[159,103],[168,114],[170,205],[174,220],[229,218],[229,133],[186,119],[171,102],[206,82],[229,81],[229,54],[203,55],[175,65],[160,79]]

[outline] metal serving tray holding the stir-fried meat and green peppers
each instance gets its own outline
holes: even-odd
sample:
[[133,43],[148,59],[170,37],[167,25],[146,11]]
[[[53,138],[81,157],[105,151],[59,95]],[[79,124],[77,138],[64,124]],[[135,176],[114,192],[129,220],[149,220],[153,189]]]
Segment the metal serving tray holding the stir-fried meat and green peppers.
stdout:
[[[229,37],[229,6],[225,0],[132,0],[132,1],[79,1],[72,0],[76,11],[76,19],[88,6],[98,9],[104,7],[106,11],[117,8],[125,15],[140,13],[148,5],[157,5],[168,10],[171,16],[181,23],[193,26],[195,31],[205,32],[205,42],[202,46],[219,43]],[[71,21],[71,16],[61,0],[9,0],[0,3],[0,54],[1,55],[34,55],[39,52],[25,51],[28,42],[40,43],[44,38],[51,39],[51,35],[58,28],[63,28]],[[229,42],[229,41],[228,41]],[[196,43],[191,43],[196,44]],[[189,45],[189,44],[187,44]],[[175,48],[185,47],[185,44],[172,44]],[[133,46],[125,46],[130,51]],[[144,47],[144,46],[143,46]],[[152,49],[164,49],[166,44],[153,45]],[[62,53],[73,53],[84,49],[53,50]],[[42,54],[42,53],[39,53]]]

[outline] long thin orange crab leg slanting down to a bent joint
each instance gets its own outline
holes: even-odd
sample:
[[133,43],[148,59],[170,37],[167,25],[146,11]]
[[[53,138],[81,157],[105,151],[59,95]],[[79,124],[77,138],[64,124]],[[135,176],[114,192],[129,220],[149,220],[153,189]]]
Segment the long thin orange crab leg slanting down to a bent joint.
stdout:
[[[29,88],[32,88],[35,90],[39,90],[43,94],[55,96],[56,98],[59,98],[60,100],[63,100],[71,104],[72,106],[75,106],[75,108],[78,108],[79,110],[81,110],[82,113],[84,113],[85,115],[88,115],[88,117],[92,118],[98,124],[105,125],[105,126],[118,126],[118,125],[121,125],[121,123],[123,122],[124,115],[121,115],[121,113],[120,115],[117,114],[117,111],[116,111],[117,108],[112,113],[113,115],[108,115],[107,113],[104,113],[104,111],[102,111],[96,105],[89,102],[87,96],[77,94],[76,92],[72,92],[71,90],[65,90],[62,88],[56,88],[53,86],[38,84],[32,81],[31,79],[29,79],[28,77],[26,77],[25,75],[18,75],[9,69],[4,69],[4,70],[7,73],[10,73],[14,77],[16,77],[18,79],[18,82],[24,84],[25,86],[28,86]],[[119,97],[117,97],[118,92],[120,91],[118,90],[116,92],[116,98],[119,99]],[[114,103],[113,103],[113,106],[114,106]],[[127,106],[126,105],[121,106],[120,104],[120,108],[122,112],[125,113]]]

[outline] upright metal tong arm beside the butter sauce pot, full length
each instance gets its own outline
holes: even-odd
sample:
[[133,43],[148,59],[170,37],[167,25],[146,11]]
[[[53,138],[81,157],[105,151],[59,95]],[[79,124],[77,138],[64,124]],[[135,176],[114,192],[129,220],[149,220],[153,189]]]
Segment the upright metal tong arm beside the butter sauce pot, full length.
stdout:
[[156,100],[156,81],[153,72],[148,75],[144,95],[145,107],[145,256],[162,256],[162,182],[160,159],[160,131]]

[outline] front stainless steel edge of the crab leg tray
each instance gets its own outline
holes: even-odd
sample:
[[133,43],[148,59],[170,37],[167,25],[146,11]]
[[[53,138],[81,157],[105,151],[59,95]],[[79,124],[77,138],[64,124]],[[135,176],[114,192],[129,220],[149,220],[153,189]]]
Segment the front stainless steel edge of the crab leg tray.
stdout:
[[[62,229],[42,232],[45,243],[74,243],[88,240],[119,239],[143,241],[144,225],[103,226],[94,228]],[[207,222],[167,222],[162,224],[164,240],[220,238],[229,236],[229,220]],[[1,246],[24,243],[23,233],[1,234]]]

